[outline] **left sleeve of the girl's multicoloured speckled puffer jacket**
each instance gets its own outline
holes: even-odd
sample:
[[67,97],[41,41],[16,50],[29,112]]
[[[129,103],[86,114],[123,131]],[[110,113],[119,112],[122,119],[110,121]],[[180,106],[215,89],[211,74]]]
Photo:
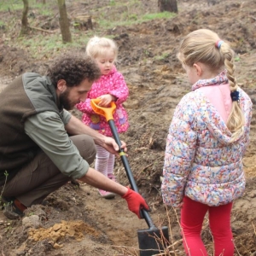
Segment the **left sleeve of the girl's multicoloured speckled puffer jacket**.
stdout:
[[166,139],[161,193],[166,205],[177,207],[183,201],[183,191],[195,156],[195,115],[184,96],[177,105]]

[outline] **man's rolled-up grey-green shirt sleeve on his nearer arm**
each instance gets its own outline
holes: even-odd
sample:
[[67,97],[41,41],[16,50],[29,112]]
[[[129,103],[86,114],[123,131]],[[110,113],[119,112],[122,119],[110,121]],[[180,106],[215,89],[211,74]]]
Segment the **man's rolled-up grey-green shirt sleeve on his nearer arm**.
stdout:
[[81,157],[78,148],[68,137],[57,113],[45,111],[34,114],[26,119],[24,126],[27,136],[44,150],[64,175],[79,178],[88,172],[89,163]]

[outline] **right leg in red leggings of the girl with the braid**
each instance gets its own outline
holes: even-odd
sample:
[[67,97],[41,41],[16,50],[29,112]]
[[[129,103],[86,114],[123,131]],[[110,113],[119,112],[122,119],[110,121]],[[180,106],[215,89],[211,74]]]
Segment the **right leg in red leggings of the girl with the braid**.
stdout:
[[230,225],[232,203],[209,208],[209,221],[214,240],[215,256],[233,256],[234,243]]

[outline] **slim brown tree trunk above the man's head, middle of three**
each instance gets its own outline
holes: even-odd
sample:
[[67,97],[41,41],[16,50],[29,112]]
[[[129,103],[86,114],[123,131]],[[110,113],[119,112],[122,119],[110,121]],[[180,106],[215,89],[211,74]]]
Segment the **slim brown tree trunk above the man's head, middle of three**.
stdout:
[[67,8],[65,0],[58,0],[59,12],[60,12],[60,27],[63,44],[71,43],[72,37],[69,29],[69,20],[67,19]]

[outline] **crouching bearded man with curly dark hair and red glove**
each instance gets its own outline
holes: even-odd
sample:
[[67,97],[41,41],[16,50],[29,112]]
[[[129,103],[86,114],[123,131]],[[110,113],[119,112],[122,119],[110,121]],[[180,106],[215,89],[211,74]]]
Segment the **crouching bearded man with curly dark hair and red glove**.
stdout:
[[140,209],[148,209],[141,195],[90,167],[95,144],[119,155],[113,138],[68,112],[100,75],[93,60],[72,53],[53,61],[45,76],[24,73],[0,93],[0,185],[7,217],[20,218],[72,179],[122,196],[139,218]]

